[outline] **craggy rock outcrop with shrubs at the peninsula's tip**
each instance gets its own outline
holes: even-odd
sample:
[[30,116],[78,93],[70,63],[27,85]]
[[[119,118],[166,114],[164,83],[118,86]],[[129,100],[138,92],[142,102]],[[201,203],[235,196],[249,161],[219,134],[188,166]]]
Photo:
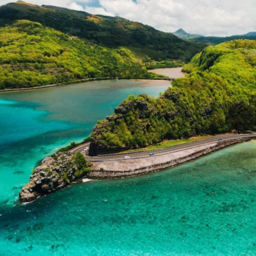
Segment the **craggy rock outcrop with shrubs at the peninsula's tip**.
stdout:
[[64,152],[47,157],[42,161],[42,165],[35,168],[29,183],[20,191],[20,200],[31,202],[64,188],[90,172],[90,166],[81,153]]

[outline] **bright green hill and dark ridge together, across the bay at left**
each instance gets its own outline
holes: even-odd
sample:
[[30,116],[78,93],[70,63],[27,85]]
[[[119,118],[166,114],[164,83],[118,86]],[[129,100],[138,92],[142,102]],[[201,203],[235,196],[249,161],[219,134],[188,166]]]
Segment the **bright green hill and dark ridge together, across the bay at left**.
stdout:
[[205,47],[120,17],[22,1],[1,6],[0,17],[0,90],[154,79],[147,68],[180,67]]

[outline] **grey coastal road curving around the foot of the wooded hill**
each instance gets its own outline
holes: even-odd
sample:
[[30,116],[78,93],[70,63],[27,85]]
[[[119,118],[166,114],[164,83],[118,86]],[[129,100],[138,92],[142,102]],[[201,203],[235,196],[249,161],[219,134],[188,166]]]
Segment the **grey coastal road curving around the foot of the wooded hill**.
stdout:
[[[172,147],[165,147],[160,148],[156,150],[147,150],[147,151],[140,151],[140,152],[132,152],[132,153],[118,153],[118,154],[109,154],[109,155],[101,155],[101,156],[86,156],[86,159],[88,159],[91,162],[100,162],[100,161],[120,161],[120,160],[129,160],[129,159],[138,159],[138,158],[146,158],[146,157],[152,157],[149,156],[150,153],[154,153],[154,156],[162,156],[164,154],[170,154],[173,152],[178,152],[182,150],[187,150],[189,148],[195,148],[200,147],[204,145],[211,145],[214,143],[219,143],[223,141],[230,141],[230,140],[239,140],[241,138],[256,138],[256,133],[252,134],[231,134],[231,135],[222,135],[222,136],[212,136],[211,138],[207,138],[204,140],[198,140],[193,141],[189,143],[183,143],[180,145],[175,145]],[[72,153],[81,152],[84,150],[84,148],[90,147],[90,142],[84,143],[83,145],[80,145],[76,148],[73,148],[70,150]],[[129,158],[125,158],[129,157]]]

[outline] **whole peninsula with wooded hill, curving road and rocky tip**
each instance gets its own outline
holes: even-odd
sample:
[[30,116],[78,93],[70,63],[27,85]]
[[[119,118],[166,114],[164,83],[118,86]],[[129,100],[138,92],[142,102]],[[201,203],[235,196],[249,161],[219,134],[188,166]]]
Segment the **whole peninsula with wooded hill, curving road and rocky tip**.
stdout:
[[[173,87],[163,95],[157,99],[148,95],[130,95],[115,108],[113,115],[95,125],[89,141],[68,148],[71,159],[76,154],[84,154],[80,156],[86,157],[90,171],[79,172],[79,177],[70,173],[68,182],[55,182],[53,188],[44,191],[40,177],[46,176],[48,178],[44,180],[52,182],[52,174],[42,175],[42,172],[56,168],[46,160],[50,166],[36,168],[29,184],[20,192],[21,200],[30,201],[30,198],[52,193],[81,177],[116,179],[157,172],[255,138],[256,134],[250,132],[256,127],[255,60],[256,42],[253,40],[207,47],[184,66],[183,70],[189,75],[175,80]],[[140,151],[140,148],[163,140],[231,131],[247,133],[213,136],[148,152],[122,153],[131,149]],[[87,155],[84,148],[88,147]],[[58,166],[60,163],[54,164]],[[65,162],[65,170],[69,164],[69,161]],[[63,180],[59,173],[58,177]]]

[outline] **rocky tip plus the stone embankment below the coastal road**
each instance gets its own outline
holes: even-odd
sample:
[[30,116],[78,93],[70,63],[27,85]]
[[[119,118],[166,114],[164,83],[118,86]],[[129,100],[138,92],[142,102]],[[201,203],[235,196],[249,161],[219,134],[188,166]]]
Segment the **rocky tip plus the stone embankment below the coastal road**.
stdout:
[[20,191],[20,200],[22,202],[31,202],[36,198],[65,188],[71,182],[81,178],[122,179],[159,172],[160,170],[205,156],[221,148],[249,140],[251,139],[241,138],[239,140],[220,141],[161,156],[120,161],[100,161],[93,164],[86,161],[81,153],[58,153],[53,157],[45,158],[42,161],[42,165],[35,168],[29,183]]

